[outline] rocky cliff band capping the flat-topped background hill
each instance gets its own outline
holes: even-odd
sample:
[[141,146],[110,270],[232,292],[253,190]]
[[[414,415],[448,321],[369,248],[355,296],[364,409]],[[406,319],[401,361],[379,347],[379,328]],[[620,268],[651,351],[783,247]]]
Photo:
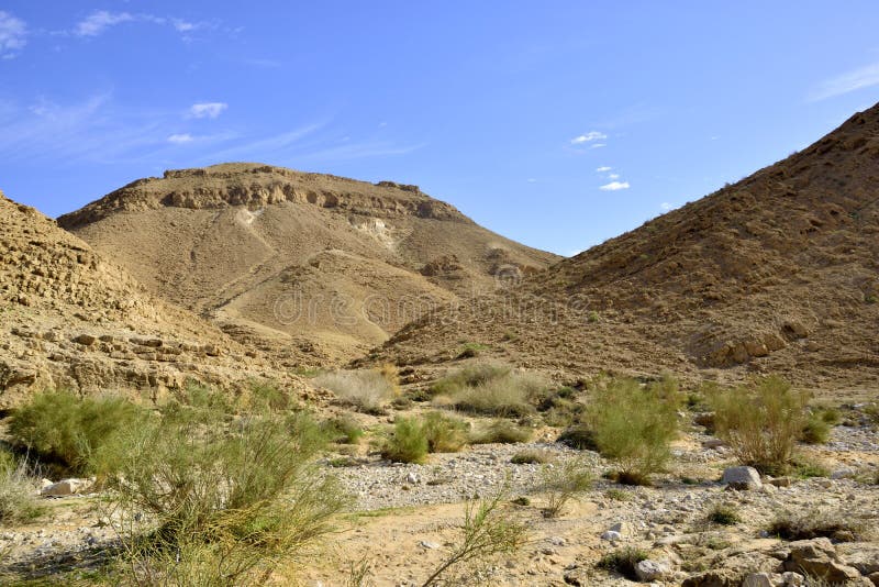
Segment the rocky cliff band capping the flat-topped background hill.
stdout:
[[418,186],[393,181],[374,185],[258,164],[175,169],[165,171],[162,178],[138,179],[81,210],[60,217],[58,223],[67,230],[74,230],[121,211],[241,206],[258,210],[281,202],[309,203],[379,218],[411,215],[471,223],[453,206],[422,193]]

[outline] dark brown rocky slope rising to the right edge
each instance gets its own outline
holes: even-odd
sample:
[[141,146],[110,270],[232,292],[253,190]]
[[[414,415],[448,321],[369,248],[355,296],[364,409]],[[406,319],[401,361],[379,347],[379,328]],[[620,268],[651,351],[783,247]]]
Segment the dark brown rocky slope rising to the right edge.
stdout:
[[442,362],[461,339],[571,374],[879,374],[879,106],[809,148],[381,351]]

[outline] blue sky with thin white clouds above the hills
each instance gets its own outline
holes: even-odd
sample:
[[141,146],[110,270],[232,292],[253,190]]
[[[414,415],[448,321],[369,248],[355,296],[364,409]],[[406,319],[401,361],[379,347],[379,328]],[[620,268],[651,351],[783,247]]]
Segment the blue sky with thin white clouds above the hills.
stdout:
[[571,254],[879,101],[879,2],[5,1],[0,189],[164,169],[393,179]]

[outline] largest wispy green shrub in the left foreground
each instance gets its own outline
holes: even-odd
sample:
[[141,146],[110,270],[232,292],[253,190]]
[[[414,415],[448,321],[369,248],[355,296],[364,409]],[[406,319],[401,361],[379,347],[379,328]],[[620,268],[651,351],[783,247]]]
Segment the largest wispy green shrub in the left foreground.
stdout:
[[108,500],[135,584],[262,584],[331,530],[346,500],[314,456],[308,414],[153,419],[114,436]]

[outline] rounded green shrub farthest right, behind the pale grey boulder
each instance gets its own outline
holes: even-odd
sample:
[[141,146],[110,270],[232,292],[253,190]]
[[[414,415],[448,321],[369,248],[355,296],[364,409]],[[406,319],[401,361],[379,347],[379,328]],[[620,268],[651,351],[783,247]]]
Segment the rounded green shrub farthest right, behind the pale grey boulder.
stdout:
[[760,473],[783,473],[806,422],[808,396],[777,376],[712,395],[717,436],[743,465]]

